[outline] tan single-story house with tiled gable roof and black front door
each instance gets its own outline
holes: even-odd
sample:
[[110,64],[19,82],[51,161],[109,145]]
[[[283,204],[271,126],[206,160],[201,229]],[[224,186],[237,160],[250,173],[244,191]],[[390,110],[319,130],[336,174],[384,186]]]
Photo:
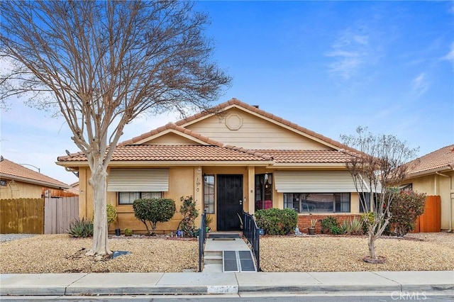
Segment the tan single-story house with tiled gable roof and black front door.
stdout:
[[[342,221],[360,213],[345,168],[344,151],[355,150],[237,99],[216,112],[168,123],[116,147],[107,202],[116,206],[118,228],[145,230],[133,213],[136,198],[172,198],[179,211],[179,198],[193,196],[199,211],[213,218],[212,230],[239,230],[237,213],[260,208],[292,208],[300,228],[310,218]],[[78,171],[79,216],[92,217],[87,158],[78,152],[58,157],[58,164]],[[157,230],[170,233],[181,218],[177,213]]]

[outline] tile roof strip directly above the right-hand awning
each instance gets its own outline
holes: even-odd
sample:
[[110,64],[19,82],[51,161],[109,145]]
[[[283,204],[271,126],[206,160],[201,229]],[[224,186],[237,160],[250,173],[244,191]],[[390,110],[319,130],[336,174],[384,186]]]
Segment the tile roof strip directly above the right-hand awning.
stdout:
[[279,163],[344,163],[350,158],[336,150],[257,150]]

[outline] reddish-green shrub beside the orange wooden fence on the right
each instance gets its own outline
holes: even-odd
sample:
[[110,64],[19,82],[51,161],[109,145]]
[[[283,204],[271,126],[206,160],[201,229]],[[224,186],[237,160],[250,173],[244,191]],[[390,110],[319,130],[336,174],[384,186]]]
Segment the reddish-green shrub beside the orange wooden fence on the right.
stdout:
[[401,191],[389,206],[394,231],[392,234],[404,236],[416,226],[416,218],[424,212],[426,203],[426,194],[416,193],[414,191]]

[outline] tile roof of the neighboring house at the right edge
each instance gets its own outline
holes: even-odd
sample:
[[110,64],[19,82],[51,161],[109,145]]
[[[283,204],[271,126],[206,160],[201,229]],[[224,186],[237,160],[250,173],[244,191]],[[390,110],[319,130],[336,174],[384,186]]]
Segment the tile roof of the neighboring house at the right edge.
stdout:
[[[454,168],[454,145],[448,145],[439,150],[433,151],[427,155],[412,160],[407,163],[406,173],[409,177],[411,174],[421,174],[424,172],[431,173],[443,169]],[[448,167],[450,165],[450,167]]]

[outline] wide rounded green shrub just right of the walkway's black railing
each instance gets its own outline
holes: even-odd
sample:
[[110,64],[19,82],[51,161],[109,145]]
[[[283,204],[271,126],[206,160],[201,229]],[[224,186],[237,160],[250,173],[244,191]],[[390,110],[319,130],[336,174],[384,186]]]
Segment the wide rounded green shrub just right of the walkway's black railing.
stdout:
[[259,228],[270,235],[287,235],[297,227],[298,213],[290,208],[268,208],[255,212]]

